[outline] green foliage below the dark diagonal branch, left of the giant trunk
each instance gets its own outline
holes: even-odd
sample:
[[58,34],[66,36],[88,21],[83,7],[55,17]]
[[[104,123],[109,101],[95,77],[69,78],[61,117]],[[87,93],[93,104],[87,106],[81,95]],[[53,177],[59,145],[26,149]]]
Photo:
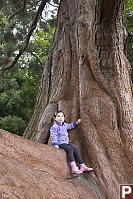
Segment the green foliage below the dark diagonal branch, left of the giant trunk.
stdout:
[[40,63],[46,61],[53,35],[53,28],[50,33],[38,30],[29,46],[31,53],[27,52],[22,56],[18,67],[13,71],[6,71],[1,76],[0,128],[18,135],[22,135],[26,128],[33,112],[43,70],[43,64]]

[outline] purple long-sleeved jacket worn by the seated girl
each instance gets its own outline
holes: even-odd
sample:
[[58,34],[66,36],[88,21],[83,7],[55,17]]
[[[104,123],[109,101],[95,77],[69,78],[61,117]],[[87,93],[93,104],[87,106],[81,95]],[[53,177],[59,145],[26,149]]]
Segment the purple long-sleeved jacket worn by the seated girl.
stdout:
[[62,125],[60,123],[54,122],[54,125],[50,128],[50,136],[53,145],[60,145],[63,143],[69,143],[69,137],[67,130],[73,129],[78,124],[73,122],[71,124],[67,124],[63,122]]

